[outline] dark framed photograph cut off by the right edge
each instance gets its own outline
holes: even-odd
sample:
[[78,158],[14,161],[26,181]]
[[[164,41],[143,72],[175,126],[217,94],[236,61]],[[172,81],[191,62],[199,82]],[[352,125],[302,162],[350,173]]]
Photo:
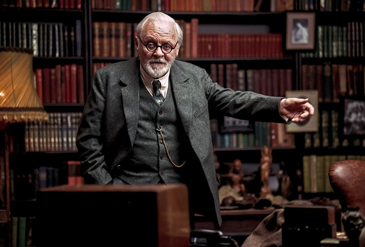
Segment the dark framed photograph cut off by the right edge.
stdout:
[[365,135],[365,98],[345,98],[343,135]]

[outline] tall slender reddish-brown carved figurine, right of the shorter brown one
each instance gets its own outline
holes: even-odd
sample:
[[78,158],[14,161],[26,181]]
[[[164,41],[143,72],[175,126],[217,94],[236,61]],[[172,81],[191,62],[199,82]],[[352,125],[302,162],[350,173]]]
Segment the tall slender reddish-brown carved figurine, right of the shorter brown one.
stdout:
[[261,174],[261,191],[260,197],[264,198],[267,195],[271,195],[269,187],[269,174],[271,170],[272,155],[271,149],[266,146],[261,148],[261,161],[260,161],[260,174]]

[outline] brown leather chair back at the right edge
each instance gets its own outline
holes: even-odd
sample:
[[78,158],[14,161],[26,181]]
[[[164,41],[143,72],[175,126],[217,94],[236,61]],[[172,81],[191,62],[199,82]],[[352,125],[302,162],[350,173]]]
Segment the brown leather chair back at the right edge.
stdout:
[[328,171],[331,186],[339,197],[342,211],[359,208],[365,215],[365,161],[338,161]]

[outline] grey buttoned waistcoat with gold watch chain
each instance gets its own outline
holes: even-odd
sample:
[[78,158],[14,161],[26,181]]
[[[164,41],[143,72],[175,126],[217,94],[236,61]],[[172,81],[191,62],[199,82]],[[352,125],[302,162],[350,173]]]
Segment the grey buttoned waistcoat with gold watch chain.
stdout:
[[168,147],[170,157],[176,165],[187,159],[187,137],[176,110],[175,99],[170,84],[162,105],[156,103],[140,81],[140,100],[137,133],[132,151],[122,164],[118,176],[127,184],[157,184],[184,182],[184,167],[177,168],[170,162],[160,132]]

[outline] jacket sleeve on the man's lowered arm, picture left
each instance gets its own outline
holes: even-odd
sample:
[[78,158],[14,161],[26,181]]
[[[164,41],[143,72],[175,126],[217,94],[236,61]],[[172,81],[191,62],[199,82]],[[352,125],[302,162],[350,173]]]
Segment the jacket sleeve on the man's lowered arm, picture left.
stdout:
[[96,72],[77,132],[76,145],[86,183],[112,181],[104,161],[102,118],[105,107],[105,83]]

